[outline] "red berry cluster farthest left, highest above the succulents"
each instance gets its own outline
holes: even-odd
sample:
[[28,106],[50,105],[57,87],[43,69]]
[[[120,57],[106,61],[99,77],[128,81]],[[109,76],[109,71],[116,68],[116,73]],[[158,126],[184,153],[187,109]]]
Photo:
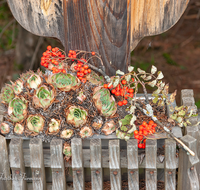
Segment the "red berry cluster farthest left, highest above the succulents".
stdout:
[[60,62],[64,59],[65,55],[62,54],[59,48],[52,48],[51,46],[47,46],[47,50],[43,53],[43,56],[41,57],[40,64],[52,70],[53,73],[66,73],[66,70],[60,64]]

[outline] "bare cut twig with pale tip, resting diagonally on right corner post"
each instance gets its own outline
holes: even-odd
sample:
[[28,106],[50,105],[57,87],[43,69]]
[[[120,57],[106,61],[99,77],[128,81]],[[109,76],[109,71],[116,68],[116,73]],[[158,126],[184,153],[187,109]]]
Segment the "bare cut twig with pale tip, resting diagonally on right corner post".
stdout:
[[[144,112],[144,109],[141,108],[140,105],[139,105],[138,103],[136,103],[135,106],[136,106],[140,111],[142,111],[144,114],[146,114],[146,113]],[[150,115],[148,115],[148,114],[146,114],[146,115],[149,116],[149,117],[151,117],[151,118],[154,120],[155,123],[157,123],[159,126],[161,126],[161,127],[164,129],[164,131],[165,131],[166,133],[168,133],[176,142],[178,142],[186,152],[188,152],[188,153],[189,153],[190,155],[192,155],[192,156],[195,156],[195,153],[194,153],[191,149],[189,149],[181,140],[179,140],[178,138],[176,138],[176,137],[170,132],[170,130],[169,130],[167,127],[165,127],[160,121],[155,120],[155,118],[153,118],[152,116],[150,116]]]

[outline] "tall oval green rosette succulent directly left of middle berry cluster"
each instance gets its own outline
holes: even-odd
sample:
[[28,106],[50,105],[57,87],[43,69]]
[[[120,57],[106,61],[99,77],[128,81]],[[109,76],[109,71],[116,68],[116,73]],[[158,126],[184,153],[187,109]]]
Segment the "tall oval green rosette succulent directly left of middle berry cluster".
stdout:
[[115,98],[110,96],[110,91],[102,86],[94,89],[93,100],[97,110],[104,117],[113,116],[117,111]]

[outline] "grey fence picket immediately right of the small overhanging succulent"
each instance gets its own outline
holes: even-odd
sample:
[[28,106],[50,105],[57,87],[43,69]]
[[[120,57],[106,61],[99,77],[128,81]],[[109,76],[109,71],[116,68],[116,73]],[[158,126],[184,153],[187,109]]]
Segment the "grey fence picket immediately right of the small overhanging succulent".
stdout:
[[73,138],[72,143],[72,170],[73,170],[73,187],[74,190],[85,189],[82,139]]

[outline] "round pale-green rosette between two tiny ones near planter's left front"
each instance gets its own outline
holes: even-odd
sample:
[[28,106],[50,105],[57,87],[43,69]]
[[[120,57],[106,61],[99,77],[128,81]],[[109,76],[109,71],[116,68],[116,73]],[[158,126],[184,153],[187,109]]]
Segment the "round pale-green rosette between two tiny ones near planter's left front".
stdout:
[[44,128],[44,119],[41,115],[29,115],[26,121],[28,129],[32,132],[39,133],[43,131]]

